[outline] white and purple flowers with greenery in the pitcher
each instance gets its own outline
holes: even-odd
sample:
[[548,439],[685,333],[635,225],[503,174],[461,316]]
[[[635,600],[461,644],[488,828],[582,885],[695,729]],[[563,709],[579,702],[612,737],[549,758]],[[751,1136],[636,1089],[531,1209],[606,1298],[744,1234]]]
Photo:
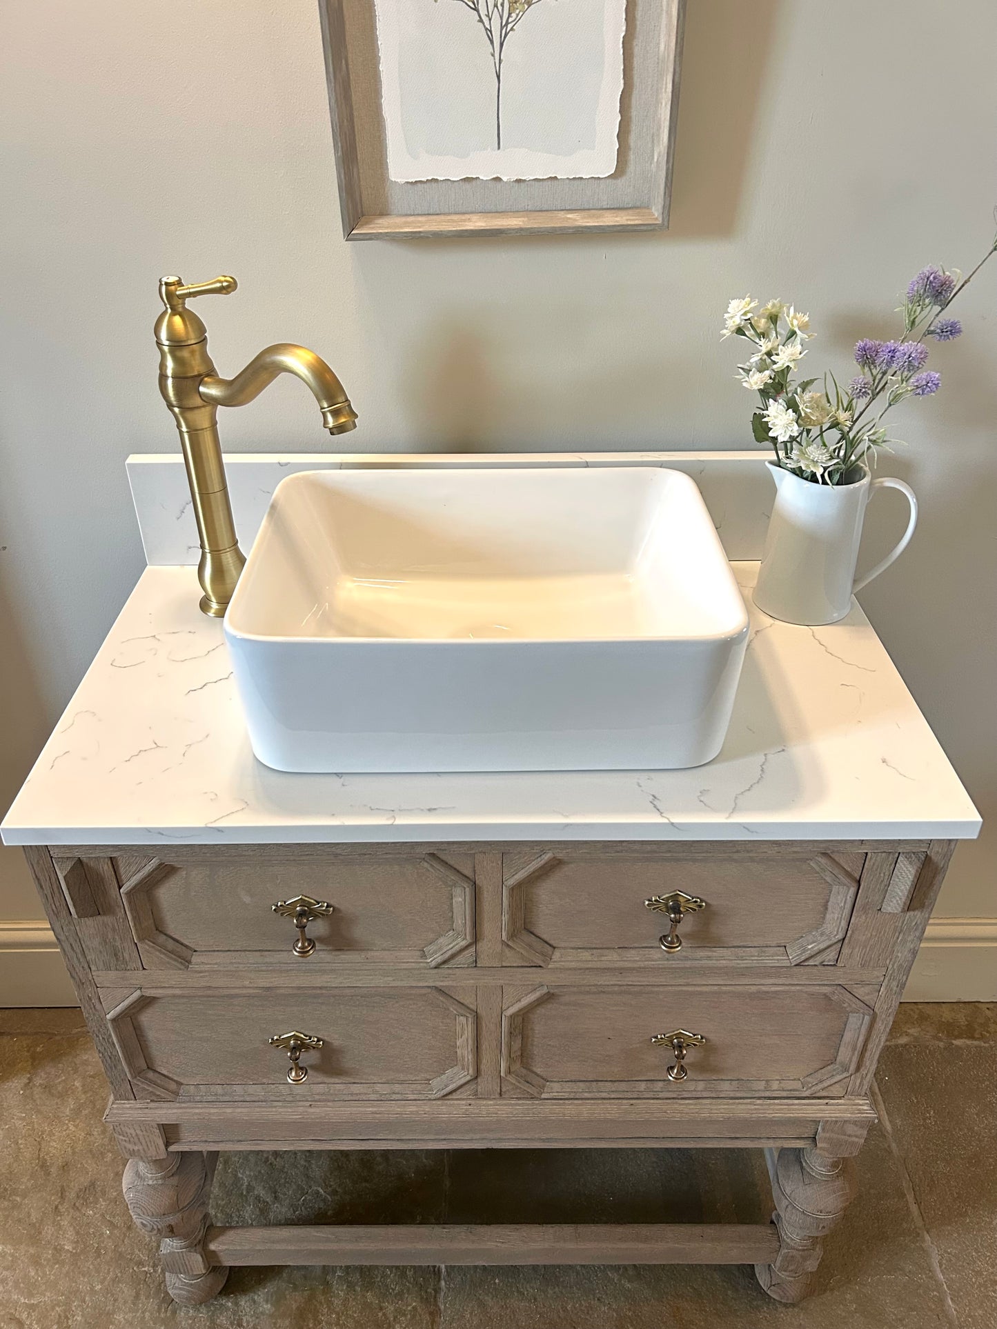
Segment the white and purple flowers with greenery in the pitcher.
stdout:
[[903,338],[857,342],[855,361],[861,373],[847,389],[833,373],[824,375],[823,391],[814,391],[816,377],[794,383],[812,336],[808,315],[782,300],[762,308],[750,295],[731,300],[723,336],[744,338],[755,348],[738,365],[739,381],[760,397],[751,417],[755,441],[771,444],[776,465],[802,480],[841,485],[856,478],[875,461],[877,448],[897,441],[887,437],[887,411],[907,397],[933,396],[941,387],[941,375],[925,368],[927,339],[952,342],[962,332],[946,311],[994,253],[997,237],[965,278],[944,267],[921,268],[897,311],[904,315]]

